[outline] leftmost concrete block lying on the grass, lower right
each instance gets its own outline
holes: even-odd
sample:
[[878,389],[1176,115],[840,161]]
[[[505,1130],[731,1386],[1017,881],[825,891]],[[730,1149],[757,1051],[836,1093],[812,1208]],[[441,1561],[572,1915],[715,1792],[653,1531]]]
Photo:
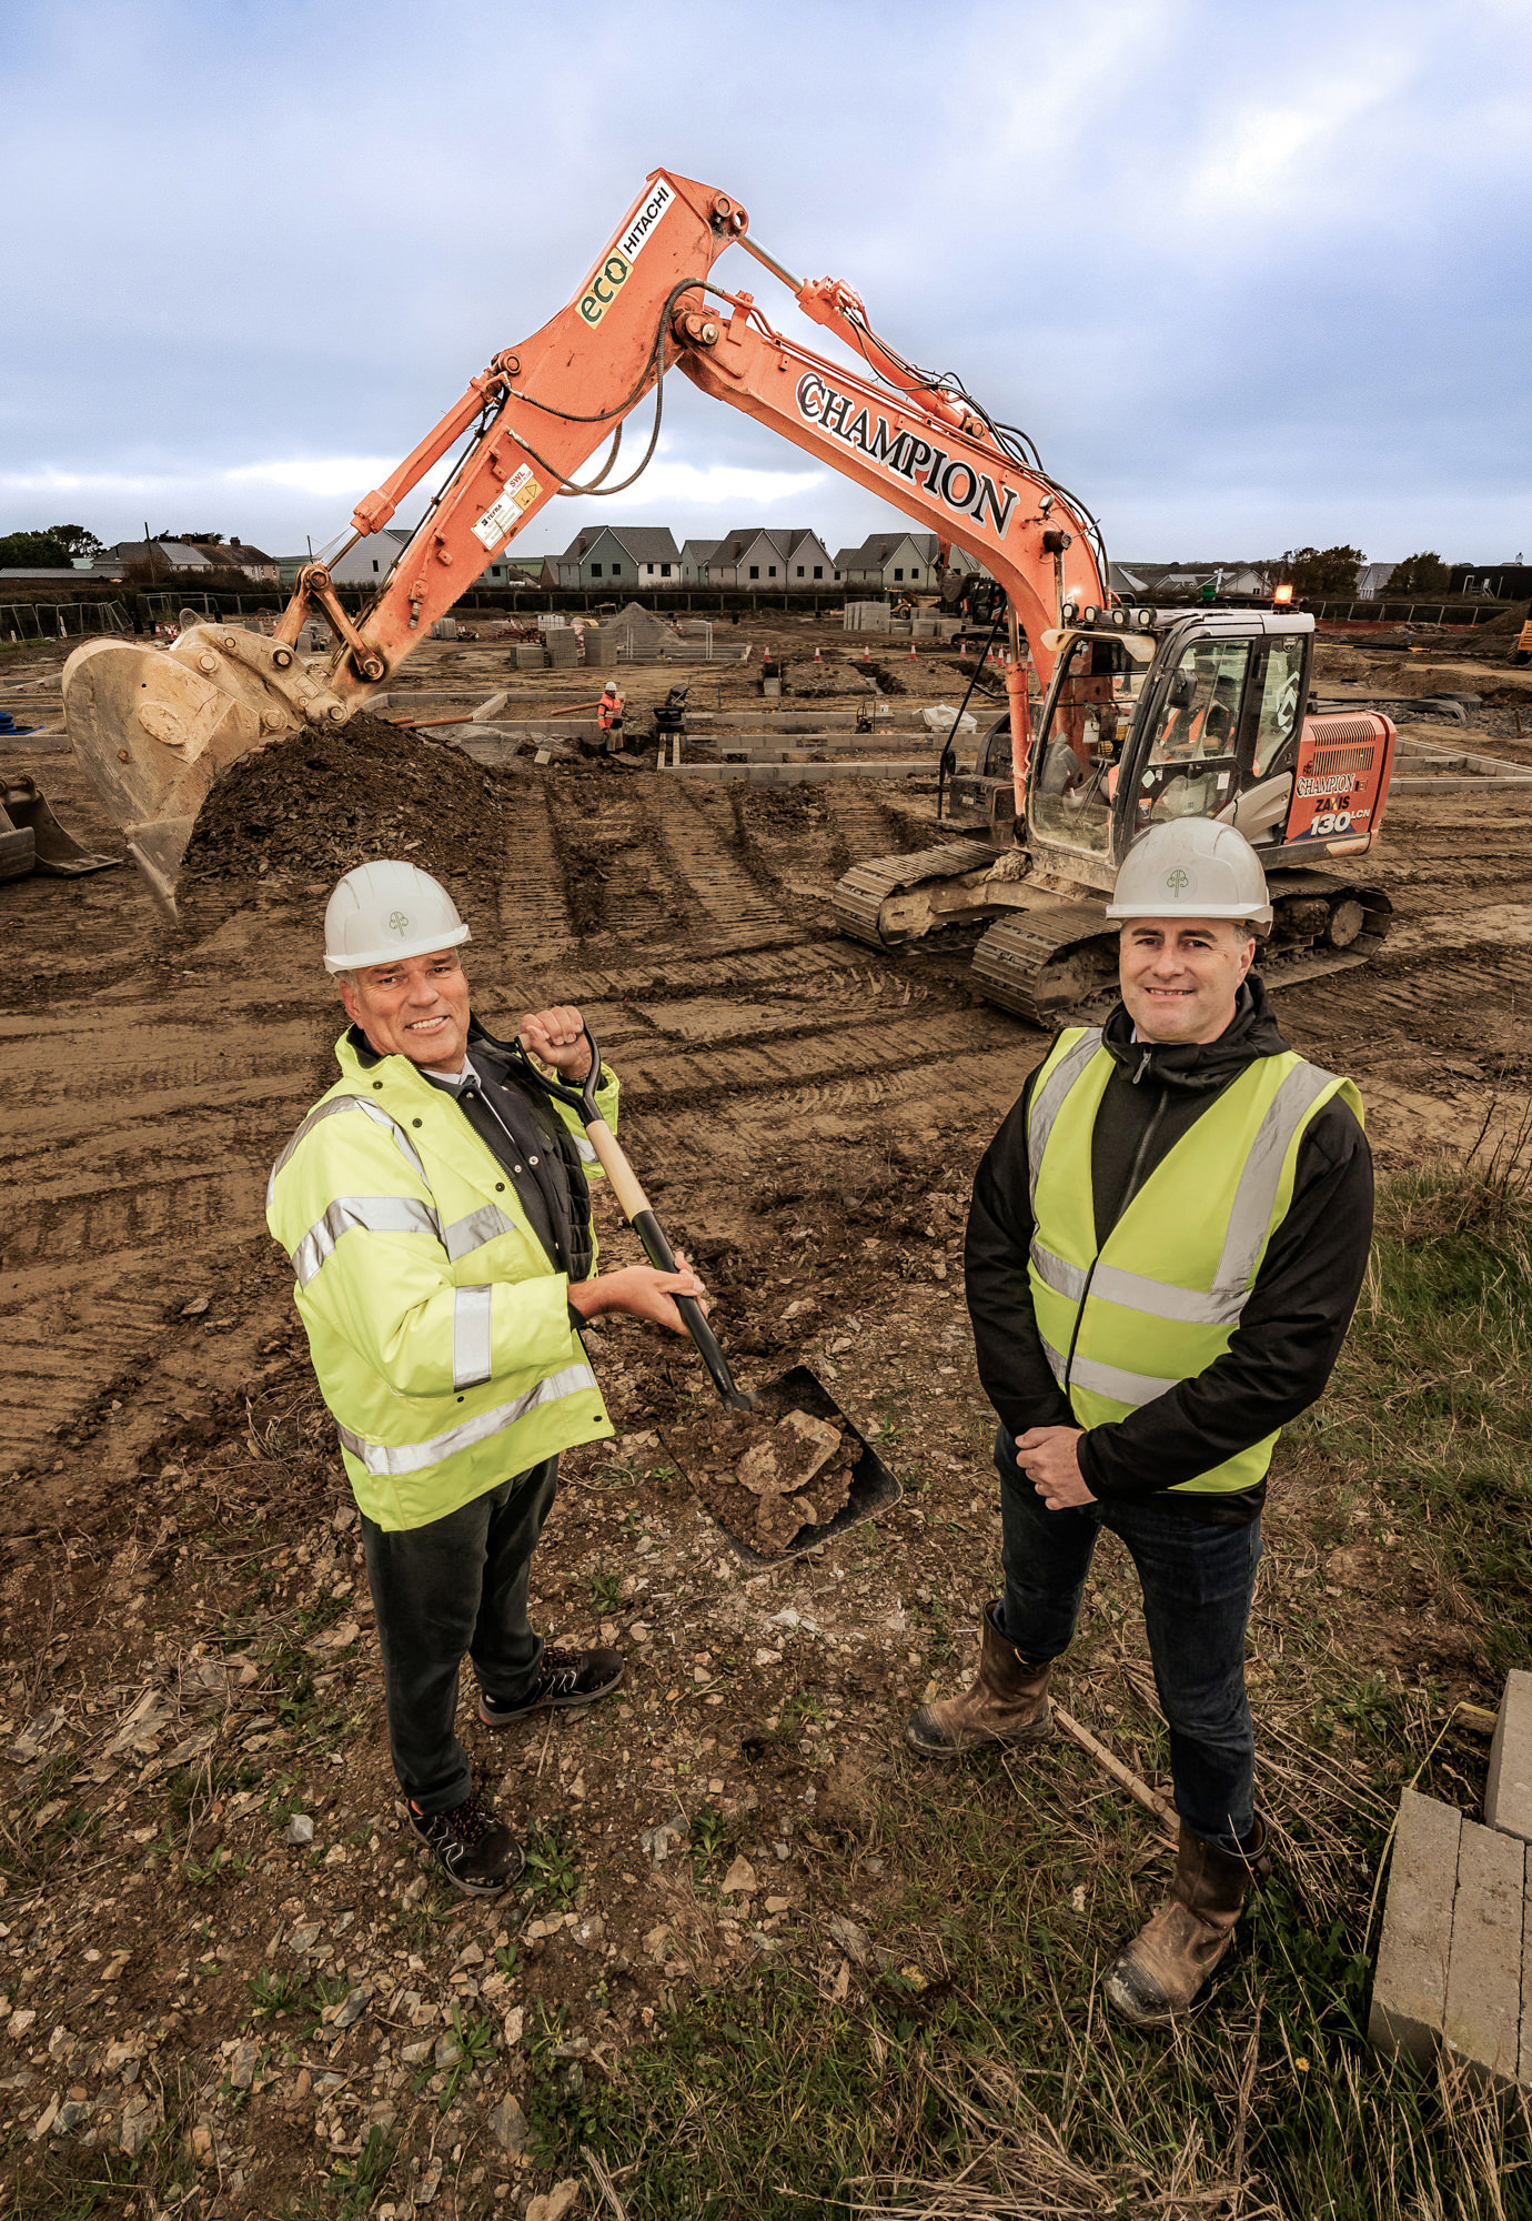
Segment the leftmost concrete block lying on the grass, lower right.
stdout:
[[1399,1799],[1368,2041],[1430,2059],[1448,2006],[1452,1897],[1463,1815],[1417,1790]]

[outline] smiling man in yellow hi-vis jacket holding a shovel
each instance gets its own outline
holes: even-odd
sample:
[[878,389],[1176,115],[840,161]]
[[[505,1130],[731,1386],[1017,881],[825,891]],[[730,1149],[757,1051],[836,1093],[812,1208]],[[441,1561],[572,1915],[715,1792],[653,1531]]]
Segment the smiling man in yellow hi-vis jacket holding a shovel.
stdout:
[[[335,886],[324,968],[351,1022],[340,1079],[278,1157],[266,1224],[293,1262],[362,1513],[409,1823],[460,1890],[493,1897],[524,1861],[473,1790],[453,1726],[460,1666],[486,1728],[622,1681],[617,1650],[533,1635],[531,1557],[560,1450],[613,1433],[579,1328],[626,1310],[682,1333],[671,1297],[702,1297],[702,1282],[651,1266],[593,1277],[595,1150],[577,1113],[471,1017],[466,939],[446,888],[413,864],[360,864]],[[537,1011],[517,1033],[584,1084],[579,1011]],[[615,1124],[606,1068],[597,1104]]]

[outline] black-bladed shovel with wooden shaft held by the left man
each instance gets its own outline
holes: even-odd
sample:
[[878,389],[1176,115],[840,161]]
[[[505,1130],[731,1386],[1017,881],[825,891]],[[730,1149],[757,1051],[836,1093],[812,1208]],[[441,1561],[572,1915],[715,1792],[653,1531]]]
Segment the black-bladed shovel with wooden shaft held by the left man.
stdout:
[[[588,1026],[586,1026],[586,1042],[591,1044],[591,1071],[586,1073],[586,1082],[582,1088],[564,1086],[557,1079],[548,1079],[546,1073],[537,1071],[537,1066],[526,1055],[520,1042],[497,1044],[497,1046],[508,1048],[522,1077],[531,1079],[533,1086],[537,1086],[544,1095],[551,1095],[555,1102],[568,1104],[571,1110],[579,1113],[591,1148],[595,1150],[599,1166],[611,1182],[622,1215],[644,1244],[644,1255],[659,1273],[675,1273],[677,1270],[675,1250],[671,1248],[666,1230],[655,1217],[651,1202],[639,1184],[639,1177],[628,1164],[622,1144],[617,1142],[617,1135],[611,1130],[611,1126],[595,1106],[595,1091],[602,1079],[602,1051],[597,1048],[595,1035],[591,1033]],[[855,1526],[857,1519],[868,1519],[886,1504],[899,1501],[904,1490],[895,1479],[895,1475],[888,1470],[888,1466],[877,1455],[873,1444],[866,1439],[861,1428],[846,1417],[846,1413],[839,1408],[830,1390],[815,1373],[808,1370],[808,1366],[790,1366],[786,1373],[777,1375],[777,1379],[766,1381],[764,1388],[759,1390],[742,1388],[735,1381],[733,1373],[728,1370],[728,1359],[724,1357],[717,1335],[713,1333],[702,1313],[702,1304],[697,1304],[697,1299],[691,1295],[677,1295],[673,1297],[673,1302],[682,1315],[686,1333],[697,1344],[702,1361],[713,1377],[713,1386],[717,1388],[728,1410],[739,1410],[739,1413],[759,1410],[762,1433],[784,1421],[784,1415],[786,1417],[799,1415],[802,1419],[808,1421],[833,1424],[844,1428],[846,1437],[850,1437],[857,1446],[857,1457],[850,1468],[850,1493],[846,1497],[846,1504],[835,1513],[833,1519],[806,1526],[802,1535],[790,1539],[779,1555],[808,1550],[815,1544],[826,1541],[826,1537],[839,1535],[841,1528]],[[728,1532],[728,1528],[724,1530]],[[753,1550],[748,1544],[742,1544],[733,1535],[730,1541],[735,1544],[742,1557],[748,1557],[755,1564],[764,1564],[759,1552]]]

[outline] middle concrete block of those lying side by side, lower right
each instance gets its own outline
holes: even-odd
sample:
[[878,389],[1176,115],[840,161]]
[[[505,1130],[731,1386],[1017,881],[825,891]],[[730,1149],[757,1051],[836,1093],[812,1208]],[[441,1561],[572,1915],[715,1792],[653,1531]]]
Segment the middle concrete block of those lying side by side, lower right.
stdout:
[[1463,1821],[1448,1961],[1448,2050],[1501,2088],[1521,2068],[1525,1843]]

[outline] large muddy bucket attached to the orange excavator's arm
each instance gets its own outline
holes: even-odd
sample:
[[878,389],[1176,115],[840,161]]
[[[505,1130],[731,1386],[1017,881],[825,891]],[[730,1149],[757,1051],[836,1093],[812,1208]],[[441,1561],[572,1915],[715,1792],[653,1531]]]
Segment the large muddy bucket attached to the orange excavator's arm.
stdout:
[[[204,660],[222,675],[220,657]],[[64,722],[129,855],[173,919],[180,860],[215,780],[295,720],[273,720],[162,649],[89,640],[64,664]]]

